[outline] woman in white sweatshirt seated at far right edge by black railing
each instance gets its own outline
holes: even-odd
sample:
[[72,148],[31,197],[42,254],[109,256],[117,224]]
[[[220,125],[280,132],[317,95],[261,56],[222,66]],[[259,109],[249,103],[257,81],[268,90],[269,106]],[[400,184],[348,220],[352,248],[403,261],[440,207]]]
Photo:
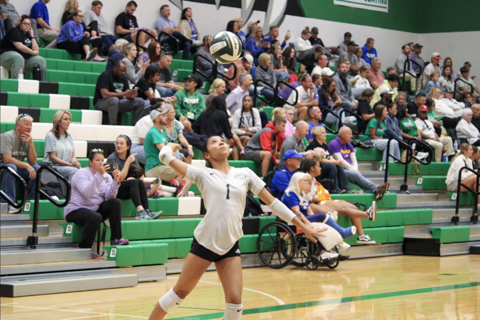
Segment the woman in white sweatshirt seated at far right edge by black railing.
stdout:
[[[468,143],[460,144],[460,152],[456,154],[456,156],[452,159],[452,163],[450,164],[450,168],[447,172],[447,178],[445,179],[445,183],[447,185],[448,191],[457,191],[458,190],[458,174],[460,173],[460,169],[467,166],[468,168],[473,170],[473,162],[470,157],[473,155],[473,148]],[[477,170],[478,171],[478,170]],[[467,170],[464,169],[462,172],[462,184],[468,186],[469,188],[476,190],[475,184],[477,183],[477,176]],[[478,190],[478,189],[477,189]],[[467,192],[468,190],[461,186],[461,192]],[[480,196],[479,196],[480,198]],[[480,203],[480,199],[479,199]]]

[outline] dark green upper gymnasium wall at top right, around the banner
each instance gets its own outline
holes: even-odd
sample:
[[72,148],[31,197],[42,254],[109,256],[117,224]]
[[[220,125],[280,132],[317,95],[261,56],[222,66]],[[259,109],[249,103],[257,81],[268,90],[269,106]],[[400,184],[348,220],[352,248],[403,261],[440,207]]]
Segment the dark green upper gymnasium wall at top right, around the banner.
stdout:
[[480,0],[390,0],[388,12],[299,0],[307,18],[412,33],[480,31]]

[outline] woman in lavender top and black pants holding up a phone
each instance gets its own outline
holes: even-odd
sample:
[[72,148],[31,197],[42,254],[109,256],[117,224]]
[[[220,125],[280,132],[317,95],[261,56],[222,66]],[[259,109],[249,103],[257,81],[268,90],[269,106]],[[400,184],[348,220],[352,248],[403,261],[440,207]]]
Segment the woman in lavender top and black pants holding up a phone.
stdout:
[[[104,163],[102,149],[93,149],[88,157],[88,167],[78,170],[72,178],[70,203],[63,210],[67,222],[83,226],[77,248],[92,248],[100,224],[109,220],[110,244],[128,245],[121,237],[121,202],[115,198],[120,187],[120,171],[111,171]],[[92,252],[92,259],[98,256]]]

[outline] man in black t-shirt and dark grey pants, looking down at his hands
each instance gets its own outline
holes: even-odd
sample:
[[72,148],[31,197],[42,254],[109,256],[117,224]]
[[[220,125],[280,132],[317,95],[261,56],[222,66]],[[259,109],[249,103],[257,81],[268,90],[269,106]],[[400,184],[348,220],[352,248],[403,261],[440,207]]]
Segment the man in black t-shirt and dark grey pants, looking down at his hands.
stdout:
[[93,105],[95,110],[108,112],[108,124],[117,124],[119,113],[133,112],[132,126],[142,118],[144,100],[137,97],[138,91],[130,90],[125,77],[127,66],[119,60],[113,68],[104,71],[96,81]]

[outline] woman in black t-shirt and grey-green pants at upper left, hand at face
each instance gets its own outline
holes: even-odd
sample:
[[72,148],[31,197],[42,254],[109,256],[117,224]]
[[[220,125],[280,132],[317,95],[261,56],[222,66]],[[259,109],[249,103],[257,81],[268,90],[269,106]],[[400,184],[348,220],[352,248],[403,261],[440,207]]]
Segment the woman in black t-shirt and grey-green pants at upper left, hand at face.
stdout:
[[10,70],[11,78],[18,79],[18,72],[32,72],[36,63],[40,67],[40,80],[45,81],[47,62],[38,55],[38,43],[27,15],[22,16],[20,24],[11,28],[0,44],[0,65]]

